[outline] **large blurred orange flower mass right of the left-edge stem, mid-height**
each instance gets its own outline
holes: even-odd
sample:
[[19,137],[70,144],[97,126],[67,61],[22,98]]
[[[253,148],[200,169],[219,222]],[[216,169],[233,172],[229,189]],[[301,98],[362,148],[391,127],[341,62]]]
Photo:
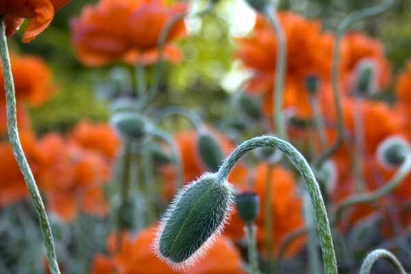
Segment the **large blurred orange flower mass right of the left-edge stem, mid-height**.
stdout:
[[79,210],[98,216],[107,213],[101,187],[108,182],[110,166],[101,153],[59,134],[47,134],[38,141],[36,161],[40,189],[64,221],[72,221]]

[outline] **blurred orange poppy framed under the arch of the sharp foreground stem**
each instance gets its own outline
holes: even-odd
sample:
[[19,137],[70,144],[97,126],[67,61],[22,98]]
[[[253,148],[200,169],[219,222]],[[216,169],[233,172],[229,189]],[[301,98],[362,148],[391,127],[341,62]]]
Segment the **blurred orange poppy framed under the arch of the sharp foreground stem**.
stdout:
[[[266,232],[264,229],[265,224],[265,208],[266,208],[266,181],[267,181],[268,165],[266,163],[258,164],[256,166],[255,175],[256,178],[253,183],[254,191],[260,197],[260,212],[256,219],[257,229],[257,242],[258,247],[266,249]],[[237,186],[238,187],[238,186]],[[245,190],[245,188],[242,188]],[[282,239],[299,227],[304,226],[304,219],[302,215],[302,201],[297,197],[297,186],[292,173],[286,171],[281,166],[275,166],[271,175],[271,201],[270,207],[272,212],[272,227],[273,227],[273,248],[277,252],[279,244]],[[225,228],[225,235],[238,240],[238,236],[244,237],[244,231],[242,231],[244,223],[240,220],[238,213],[235,212],[229,224]],[[292,244],[286,250],[285,255],[287,257],[294,256],[301,250],[305,244],[304,238],[299,238],[292,242]]]

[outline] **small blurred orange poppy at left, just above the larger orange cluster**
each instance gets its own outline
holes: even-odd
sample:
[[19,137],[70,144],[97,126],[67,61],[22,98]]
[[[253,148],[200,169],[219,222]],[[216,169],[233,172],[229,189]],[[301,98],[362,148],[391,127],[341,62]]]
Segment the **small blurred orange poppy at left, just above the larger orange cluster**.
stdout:
[[82,121],[73,129],[71,137],[84,149],[99,151],[110,159],[114,159],[120,147],[119,137],[106,123]]

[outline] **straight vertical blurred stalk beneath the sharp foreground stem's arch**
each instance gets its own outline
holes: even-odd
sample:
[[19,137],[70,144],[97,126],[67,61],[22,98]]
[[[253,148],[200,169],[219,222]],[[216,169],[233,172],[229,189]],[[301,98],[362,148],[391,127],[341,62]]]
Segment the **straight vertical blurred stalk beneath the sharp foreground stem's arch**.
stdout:
[[271,212],[271,177],[273,176],[273,164],[268,164],[267,176],[266,176],[266,194],[265,194],[265,218],[264,226],[266,231],[266,247],[267,247],[267,273],[271,274],[273,270],[273,212]]

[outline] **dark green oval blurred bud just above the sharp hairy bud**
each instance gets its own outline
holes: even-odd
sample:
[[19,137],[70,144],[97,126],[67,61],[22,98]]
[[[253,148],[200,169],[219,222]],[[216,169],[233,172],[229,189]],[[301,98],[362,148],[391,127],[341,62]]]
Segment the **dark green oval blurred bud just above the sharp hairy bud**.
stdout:
[[201,133],[197,143],[199,155],[208,171],[216,172],[224,160],[223,151],[212,134]]

